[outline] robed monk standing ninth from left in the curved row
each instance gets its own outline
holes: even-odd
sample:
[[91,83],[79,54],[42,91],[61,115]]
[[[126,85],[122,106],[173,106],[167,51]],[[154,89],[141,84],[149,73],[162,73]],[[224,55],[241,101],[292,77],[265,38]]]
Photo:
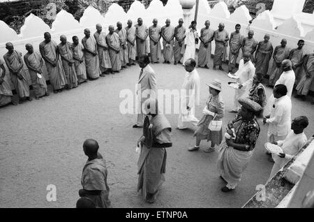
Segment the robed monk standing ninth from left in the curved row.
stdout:
[[114,73],[119,73],[121,70],[120,40],[119,35],[114,32],[114,27],[112,25],[109,27],[109,34],[106,36],[106,42],[109,47],[112,71],[114,71]]

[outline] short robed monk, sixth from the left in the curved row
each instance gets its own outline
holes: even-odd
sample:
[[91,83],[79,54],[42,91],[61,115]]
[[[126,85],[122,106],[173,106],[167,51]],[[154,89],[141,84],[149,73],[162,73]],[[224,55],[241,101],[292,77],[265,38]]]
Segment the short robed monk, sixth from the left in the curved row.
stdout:
[[74,67],[77,76],[78,84],[83,82],[87,82],[87,74],[86,74],[86,66],[84,59],[84,47],[79,42],[79,38],[77,36],[72,37],[72,50],[73,50],[73,59],[74,59]]

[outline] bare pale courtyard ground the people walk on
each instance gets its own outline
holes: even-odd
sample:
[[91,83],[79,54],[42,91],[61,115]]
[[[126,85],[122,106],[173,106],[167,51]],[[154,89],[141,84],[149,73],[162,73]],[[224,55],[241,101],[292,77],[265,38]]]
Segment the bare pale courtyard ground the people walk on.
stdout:
[[[183,66],[154,64],[158,88],[180,89]],[[241,184],[231,193],[222,193],[225,184],[216,170],[218,152],[190,153],[193,131],[178,131],[177,114],[167,115],[173,127],[174,147],[167,149],[166,182],[156,203],[149,205],[136,192],[137,154],[135,142],[142,129],[133,129],[135,114],[119,112],[119,92],[134,91],[140,68],[132,66],[117,75],[107,75],[77,89],[52,94],[39,101],[0,109],[0,207],[75,207],[81,188],[80,176],[87,157],[82,143],[94,138],[107,160],[110,199],[113,207],[241,207],[264,184],[272,164],[264,154],[267,128],[262,131],[255,153]],[[234,92],[221,71],[198,69],[201,77],[201,104],[208,96],[206,83],[223,81],[225,123],[233,118]],[[271,89],[267,89],[267,95]],[[313,123],[313,105],[294,98],[292,117],[306,115]],[[313,124],[306,130],[313,135]],[[201,149],[207,144],[202,142]],[[57,202],[47,202],[46,187],[57,186]]]

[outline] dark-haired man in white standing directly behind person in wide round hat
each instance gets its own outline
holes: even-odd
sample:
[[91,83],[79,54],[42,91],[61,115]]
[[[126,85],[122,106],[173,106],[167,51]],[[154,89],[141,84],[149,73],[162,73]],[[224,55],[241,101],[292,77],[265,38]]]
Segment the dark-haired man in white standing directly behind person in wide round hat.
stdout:
[[291,126],[291,99],[287,96],[287,87],[278,84],[274,87],[274,99],[269,101],[271,112],[264,117],[264,124],[268,124],[267,142],[285,140]]

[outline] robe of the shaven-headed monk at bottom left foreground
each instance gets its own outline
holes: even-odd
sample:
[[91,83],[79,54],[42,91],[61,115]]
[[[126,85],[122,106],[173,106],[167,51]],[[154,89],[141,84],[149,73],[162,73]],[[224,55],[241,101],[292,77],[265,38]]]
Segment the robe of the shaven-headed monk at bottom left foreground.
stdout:
[[81,184],[83,189],[87,191],[100,191],[100,195],[85,194],[83,197],[89,198],[99,208],[111,207],[107,174],[106,162],[103,158],[87,161],[82,172]]

